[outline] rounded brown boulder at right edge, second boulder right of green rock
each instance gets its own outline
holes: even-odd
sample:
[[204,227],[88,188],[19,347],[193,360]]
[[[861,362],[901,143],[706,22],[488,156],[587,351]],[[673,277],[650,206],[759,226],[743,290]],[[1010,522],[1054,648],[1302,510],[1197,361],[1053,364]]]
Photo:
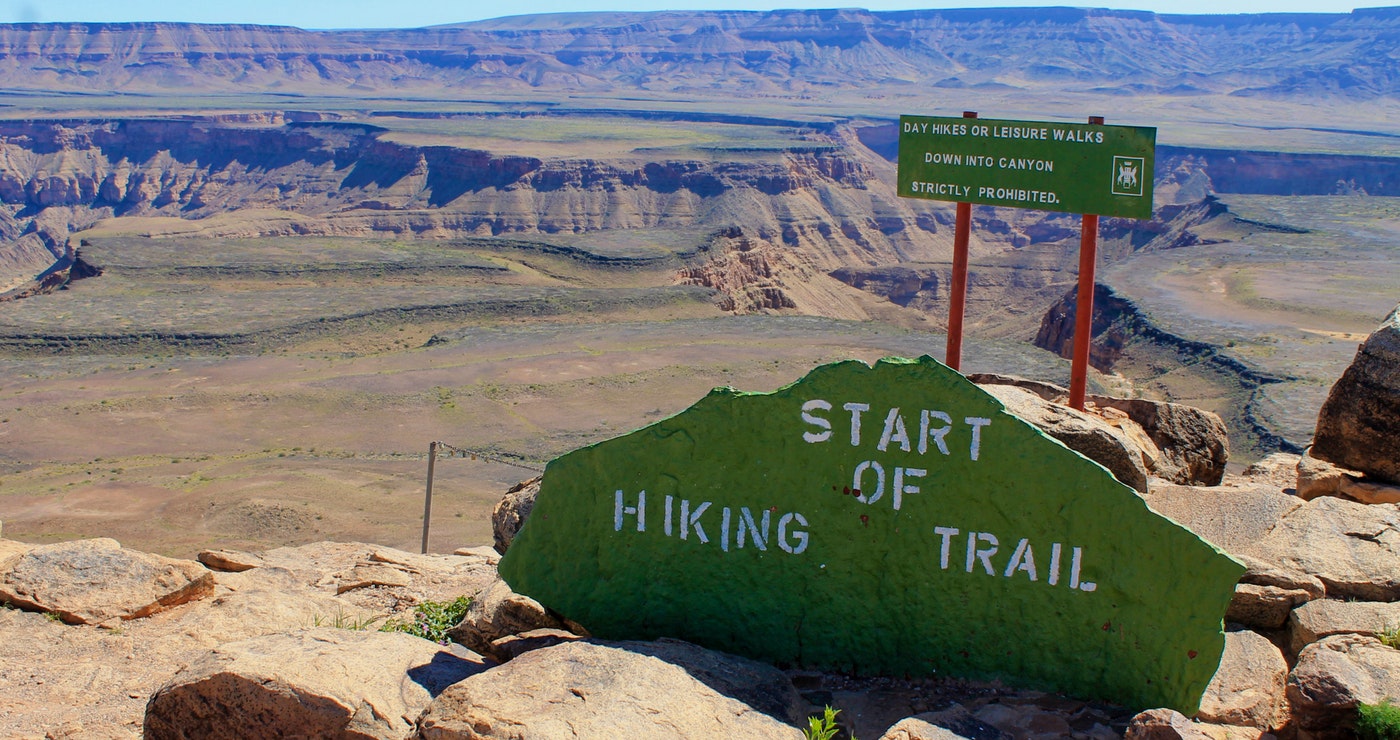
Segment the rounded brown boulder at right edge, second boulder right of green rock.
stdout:
[[1316,740],[1354,737],[1357,705],[1387,697],[1400,697],[1400,650],[1369,635],[1313,642],[1288,677],[1294,723]]

